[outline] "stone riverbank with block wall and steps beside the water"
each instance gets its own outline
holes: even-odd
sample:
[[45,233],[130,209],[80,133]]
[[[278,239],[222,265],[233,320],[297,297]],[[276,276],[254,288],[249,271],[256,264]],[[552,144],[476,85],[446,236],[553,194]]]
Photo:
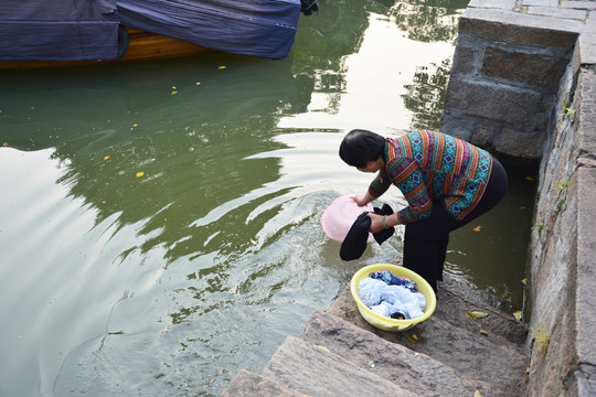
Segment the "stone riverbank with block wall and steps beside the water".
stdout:
[[224,396],[596,394],[596,2],[473,0],[441,130],[540,163],[523,324],[445,283],[430,319],[390,334],[344,291]]

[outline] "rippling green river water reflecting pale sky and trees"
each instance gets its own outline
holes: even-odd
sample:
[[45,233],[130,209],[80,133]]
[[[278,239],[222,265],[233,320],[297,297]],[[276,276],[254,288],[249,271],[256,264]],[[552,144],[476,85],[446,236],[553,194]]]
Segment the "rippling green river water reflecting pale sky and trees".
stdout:
[[[324,207],[370,182],[337,150],[347,129],[438,125],[466,4],[322,6],[284,61],[0,75],[0,395],[219,395],[401,255],[403,229],[351,262],[326,238]],[[515,181],[447,269],[507,309],[533,189]]]

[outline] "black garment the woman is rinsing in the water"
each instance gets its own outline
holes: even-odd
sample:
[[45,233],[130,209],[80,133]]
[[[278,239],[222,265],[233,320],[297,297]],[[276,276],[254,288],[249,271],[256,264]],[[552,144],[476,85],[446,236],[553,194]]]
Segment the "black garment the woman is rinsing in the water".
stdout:
[[[374,207],[374,213],[377,215],[391,215],[393,214],[393,208],[389,204],[383,204],[381,208]],[[358,259],[366,250],[366,243],[369,240],[369,229],[371,228],[371,218],[369,217],[369,212],[363,212],[354,221],[352,227],[345,235],[343,243],[340,248],[340,258],[343,260],[353,260]],[[393,236],[395,233],[395,227],[389,227],[379,233],[374,233],[373,237],[376,243],[380,245],[385,242],[387,238]]]

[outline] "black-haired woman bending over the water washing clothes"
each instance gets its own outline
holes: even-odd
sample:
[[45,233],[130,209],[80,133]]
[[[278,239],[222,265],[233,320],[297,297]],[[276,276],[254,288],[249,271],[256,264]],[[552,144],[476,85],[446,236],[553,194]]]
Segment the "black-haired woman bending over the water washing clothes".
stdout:
[[393,215],[371,217],[371,233],[405,225],[404,267],[437,290],[443,280],[449,233],[496,206],[507,191],[507,174],[489,152],[441,132],[419,130],[384,138],[352,130],[340,157],[362,172],[379,172],[364,194],[363,206],[396,185],[408,206]]

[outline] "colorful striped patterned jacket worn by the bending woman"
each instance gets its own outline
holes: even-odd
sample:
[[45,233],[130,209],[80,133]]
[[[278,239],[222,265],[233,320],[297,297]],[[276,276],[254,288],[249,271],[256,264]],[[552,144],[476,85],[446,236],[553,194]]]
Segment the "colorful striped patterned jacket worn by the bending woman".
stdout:
[[409,204],[397,213],[402,224],[430,216],[437,200],[456,219],[462,219],[482,197],[492,169],[486,150],[427,130],[387,138],[382,155],[385,167],[369,192],[379,197],[396,185]]

